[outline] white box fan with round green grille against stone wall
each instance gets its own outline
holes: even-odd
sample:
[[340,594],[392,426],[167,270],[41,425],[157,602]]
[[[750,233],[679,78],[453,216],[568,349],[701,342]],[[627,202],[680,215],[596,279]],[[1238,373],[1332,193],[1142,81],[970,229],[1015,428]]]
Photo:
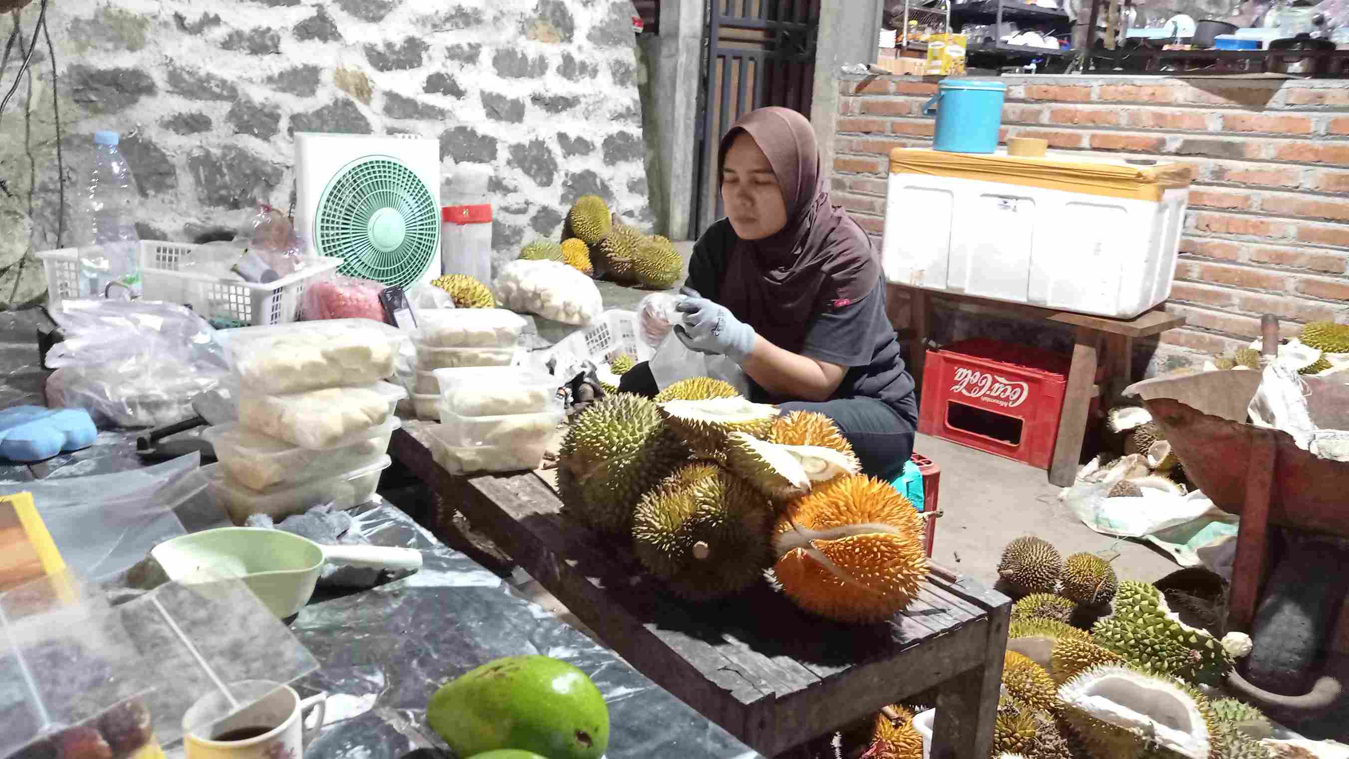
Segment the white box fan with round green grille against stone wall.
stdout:
[[440,143],[295,132],[295,231],[340,273],[407,286],[440,277]]

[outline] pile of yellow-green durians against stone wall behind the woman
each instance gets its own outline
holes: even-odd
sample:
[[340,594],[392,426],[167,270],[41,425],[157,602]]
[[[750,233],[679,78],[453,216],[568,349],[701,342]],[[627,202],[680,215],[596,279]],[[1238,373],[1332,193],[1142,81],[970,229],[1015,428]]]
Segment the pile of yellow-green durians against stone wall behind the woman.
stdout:
[[615,221],[604,199],[581,196],[567,212],[563,242],[534,240],[519,251],[525,259],[561,261],[590,277],[608,277],[652,290],[674,286],[684,258],[661,235],[643,235]]

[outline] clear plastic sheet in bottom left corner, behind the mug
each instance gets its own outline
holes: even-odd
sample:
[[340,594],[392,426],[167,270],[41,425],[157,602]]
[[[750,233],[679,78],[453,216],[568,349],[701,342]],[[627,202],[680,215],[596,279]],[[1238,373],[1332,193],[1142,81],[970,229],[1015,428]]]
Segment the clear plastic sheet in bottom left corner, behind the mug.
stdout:
[[[144,744],[146,728],[169,745],[225,716],[194,713],[185,724],[201,697],[240,708],[231,683],[291,682],[318,667],[243,582],[209,579],[165,583],[117,606],[70,573],[0,594],[0,756],[58,754],[80,739],[119,759]],[[124,729],[116,717],[128,706],[148,712],[150,725]]]

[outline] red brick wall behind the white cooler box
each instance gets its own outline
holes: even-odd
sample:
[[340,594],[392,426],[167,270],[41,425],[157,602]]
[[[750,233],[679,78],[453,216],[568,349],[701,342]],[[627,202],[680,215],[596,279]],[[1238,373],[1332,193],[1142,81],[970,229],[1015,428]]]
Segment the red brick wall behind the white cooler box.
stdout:
[[[1190,165],[1194,185],[1163,363],[1244,344],[1260,315],[1284,334],[1349,319],[1349,81],[1002,77],[1002,139]],[[880,244],[886,158],[931,145],[934,81],[840,81],[834,199]],[[915,220],[920,223],[920,220]],[[897,309],[892,305],[892,309]],[[1043,342],[1043,340],[1041,340]]]

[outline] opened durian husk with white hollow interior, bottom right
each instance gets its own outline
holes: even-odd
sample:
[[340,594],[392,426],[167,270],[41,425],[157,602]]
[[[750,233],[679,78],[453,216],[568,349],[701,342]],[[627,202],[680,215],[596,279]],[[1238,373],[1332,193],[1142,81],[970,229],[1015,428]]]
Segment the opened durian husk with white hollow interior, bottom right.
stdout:
[[1209,700],[1175,678],[1101,664],[1063,683],[1059,698],[1097,759],[1222,758],[1221,721]]

